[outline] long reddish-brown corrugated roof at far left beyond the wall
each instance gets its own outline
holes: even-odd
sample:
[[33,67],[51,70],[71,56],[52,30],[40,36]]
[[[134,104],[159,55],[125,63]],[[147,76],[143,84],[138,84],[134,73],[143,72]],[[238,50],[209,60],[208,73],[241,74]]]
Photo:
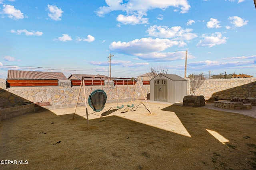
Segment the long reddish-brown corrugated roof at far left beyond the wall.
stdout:
[[7,79],[58,79],[68,80],[62,72],[8,70]]

